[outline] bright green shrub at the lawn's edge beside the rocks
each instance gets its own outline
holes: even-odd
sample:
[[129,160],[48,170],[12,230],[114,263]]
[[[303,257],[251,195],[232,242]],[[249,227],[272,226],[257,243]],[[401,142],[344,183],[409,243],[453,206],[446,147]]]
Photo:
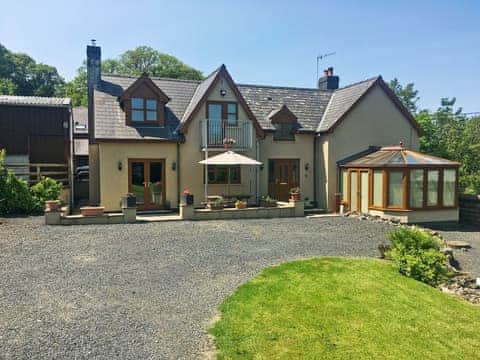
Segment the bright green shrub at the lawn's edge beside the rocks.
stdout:
[[418,228],[388,234],[392,249],[386,253],[400,274],[435,286],[447,277],[447,258],[438,238]]

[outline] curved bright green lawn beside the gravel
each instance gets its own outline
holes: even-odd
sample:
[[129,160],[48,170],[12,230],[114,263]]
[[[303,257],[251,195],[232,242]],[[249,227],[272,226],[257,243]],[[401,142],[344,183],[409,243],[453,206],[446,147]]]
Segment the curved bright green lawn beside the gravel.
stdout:
[[221,305],[219,359],[478,359],[480,308],[373,259],[264,270]]

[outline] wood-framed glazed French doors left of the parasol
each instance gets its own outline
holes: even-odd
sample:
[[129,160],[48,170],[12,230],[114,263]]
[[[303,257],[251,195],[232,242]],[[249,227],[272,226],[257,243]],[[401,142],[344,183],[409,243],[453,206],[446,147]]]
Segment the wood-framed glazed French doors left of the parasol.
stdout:
[[129,159],[128,191],[137,197],[139,210],[165,206],[165,160]]

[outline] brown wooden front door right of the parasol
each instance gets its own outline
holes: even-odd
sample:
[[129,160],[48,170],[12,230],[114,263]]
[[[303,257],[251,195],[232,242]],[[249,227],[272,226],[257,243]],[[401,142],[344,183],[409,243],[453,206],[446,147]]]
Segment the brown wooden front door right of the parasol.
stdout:
[[299,186],[298,159],[269,160],[269,193],[280,201],[288,201],[290,189]]

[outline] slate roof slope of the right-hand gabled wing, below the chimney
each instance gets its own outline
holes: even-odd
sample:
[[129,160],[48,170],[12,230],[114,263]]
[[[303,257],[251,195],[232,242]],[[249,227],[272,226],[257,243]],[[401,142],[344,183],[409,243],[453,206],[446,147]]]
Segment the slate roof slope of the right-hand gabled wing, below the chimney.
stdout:
[[380,79],[379,76],[337,89],[318,124],[317,131],[328,131]]

